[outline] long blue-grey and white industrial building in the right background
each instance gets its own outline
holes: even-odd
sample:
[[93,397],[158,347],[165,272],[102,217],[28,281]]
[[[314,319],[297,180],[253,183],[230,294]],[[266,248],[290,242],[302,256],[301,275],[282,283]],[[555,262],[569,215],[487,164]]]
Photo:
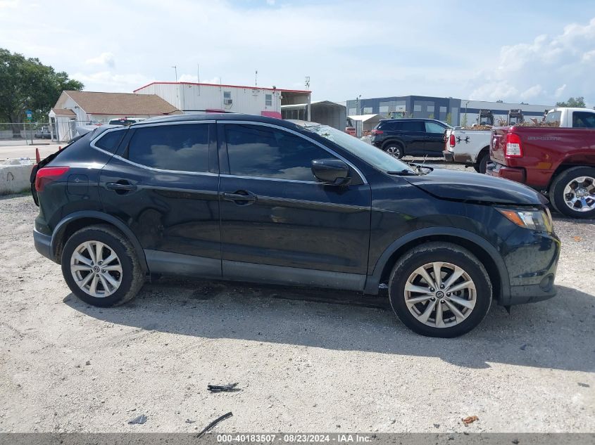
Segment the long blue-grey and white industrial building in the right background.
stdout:
[[430,96],[393,96],[384,98],[358,98],[347,101],[347,115],[382,117],[425,117],[451,125],[471,126],[477,123],[480,110],[491,110],[494,120],[508,117],[509,110],[522,110],[525,119],[541,119],[545,110],[553,105],[527,103],[485,102]]

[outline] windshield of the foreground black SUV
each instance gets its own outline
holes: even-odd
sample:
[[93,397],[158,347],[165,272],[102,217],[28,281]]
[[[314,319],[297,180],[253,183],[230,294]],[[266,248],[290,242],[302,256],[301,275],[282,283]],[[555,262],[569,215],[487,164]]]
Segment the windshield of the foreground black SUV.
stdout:
[[416,174],[415,170],[405,162],[401,162],[396,157],[371,146],[369,143],[360,141],[358,138],[346,134],[344,131],[339,131],[327,125],[312,125],[305,128],[323,138],[327,138],[329,141],[333,141],[338,146],[349,151],[349,153],[368,162],[372,167],[382,170],[382,172],[403,172],[403,170],[406,170],[412,174]]

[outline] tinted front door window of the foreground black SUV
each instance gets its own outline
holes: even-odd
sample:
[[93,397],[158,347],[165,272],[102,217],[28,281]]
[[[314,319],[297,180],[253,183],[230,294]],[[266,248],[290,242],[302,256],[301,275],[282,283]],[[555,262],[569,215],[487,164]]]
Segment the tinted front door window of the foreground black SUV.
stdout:
[[237,176],[316,181],[312,161],[334,157],[300,136],[261,125],[225,125],[225,137],[230,174]]

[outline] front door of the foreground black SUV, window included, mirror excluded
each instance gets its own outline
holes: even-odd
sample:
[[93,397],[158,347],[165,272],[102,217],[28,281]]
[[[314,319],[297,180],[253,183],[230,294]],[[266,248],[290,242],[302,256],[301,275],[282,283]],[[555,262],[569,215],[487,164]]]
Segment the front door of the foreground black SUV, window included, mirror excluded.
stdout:
[[361,290],[370,186],[351,165],[349,186],[325,185],[315,159],[339,158],[298,131],[218,123],[223,277]]

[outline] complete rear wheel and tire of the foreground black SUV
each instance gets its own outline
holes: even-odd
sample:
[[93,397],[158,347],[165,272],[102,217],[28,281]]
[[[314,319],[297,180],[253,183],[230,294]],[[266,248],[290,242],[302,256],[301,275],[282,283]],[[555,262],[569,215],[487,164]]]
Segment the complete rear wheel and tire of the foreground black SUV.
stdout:
[[[96,258],[98,248],[101,260]],[[115,259],[110,259],[113,255]],[[75,232],[64,245],[61,262],[70,290],[93,306],[124,304],[137,295],[144,284],[144,273],[134,247],[112,226],[89,226]]]

